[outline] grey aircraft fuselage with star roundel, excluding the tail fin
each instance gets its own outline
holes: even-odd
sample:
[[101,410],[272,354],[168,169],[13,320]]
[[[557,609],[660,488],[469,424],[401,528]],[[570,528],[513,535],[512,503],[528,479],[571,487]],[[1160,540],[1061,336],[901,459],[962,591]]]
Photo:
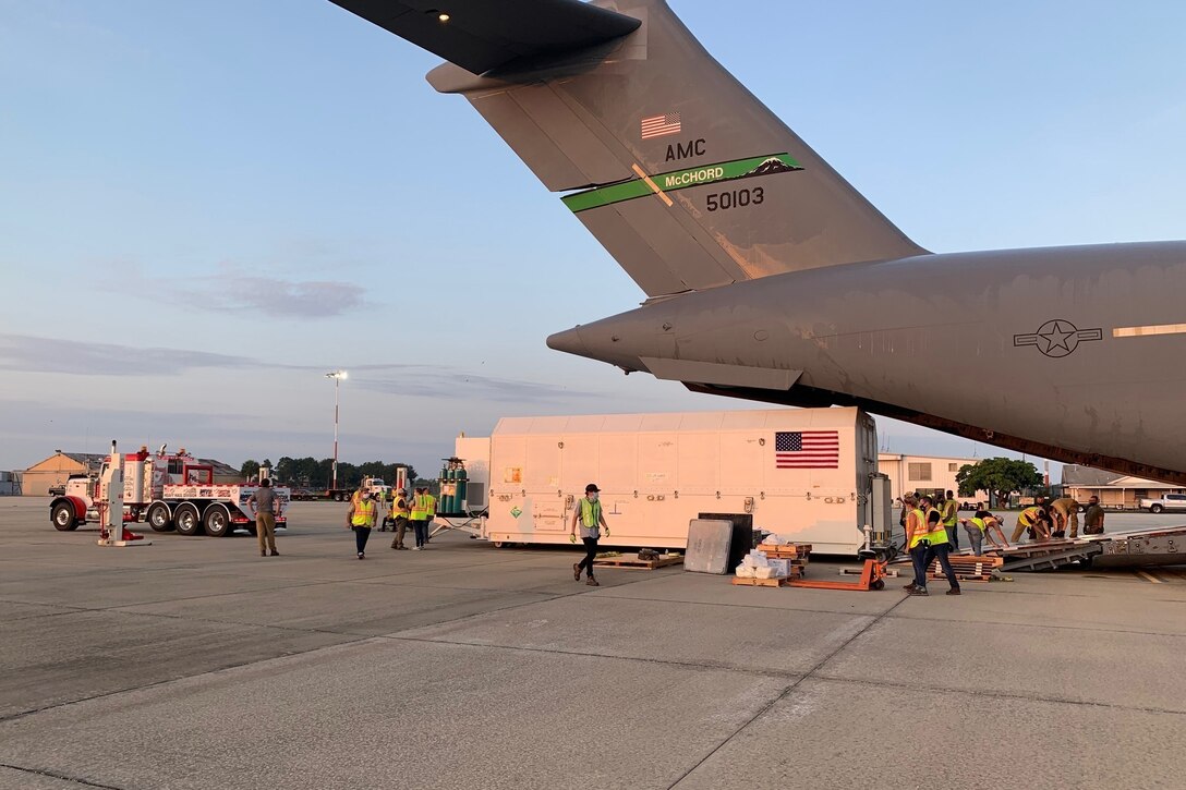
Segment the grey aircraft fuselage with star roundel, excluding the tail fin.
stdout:
[[548,344],[1186,483],[1182,293],[1186,242],[919,255],[687,293]]

